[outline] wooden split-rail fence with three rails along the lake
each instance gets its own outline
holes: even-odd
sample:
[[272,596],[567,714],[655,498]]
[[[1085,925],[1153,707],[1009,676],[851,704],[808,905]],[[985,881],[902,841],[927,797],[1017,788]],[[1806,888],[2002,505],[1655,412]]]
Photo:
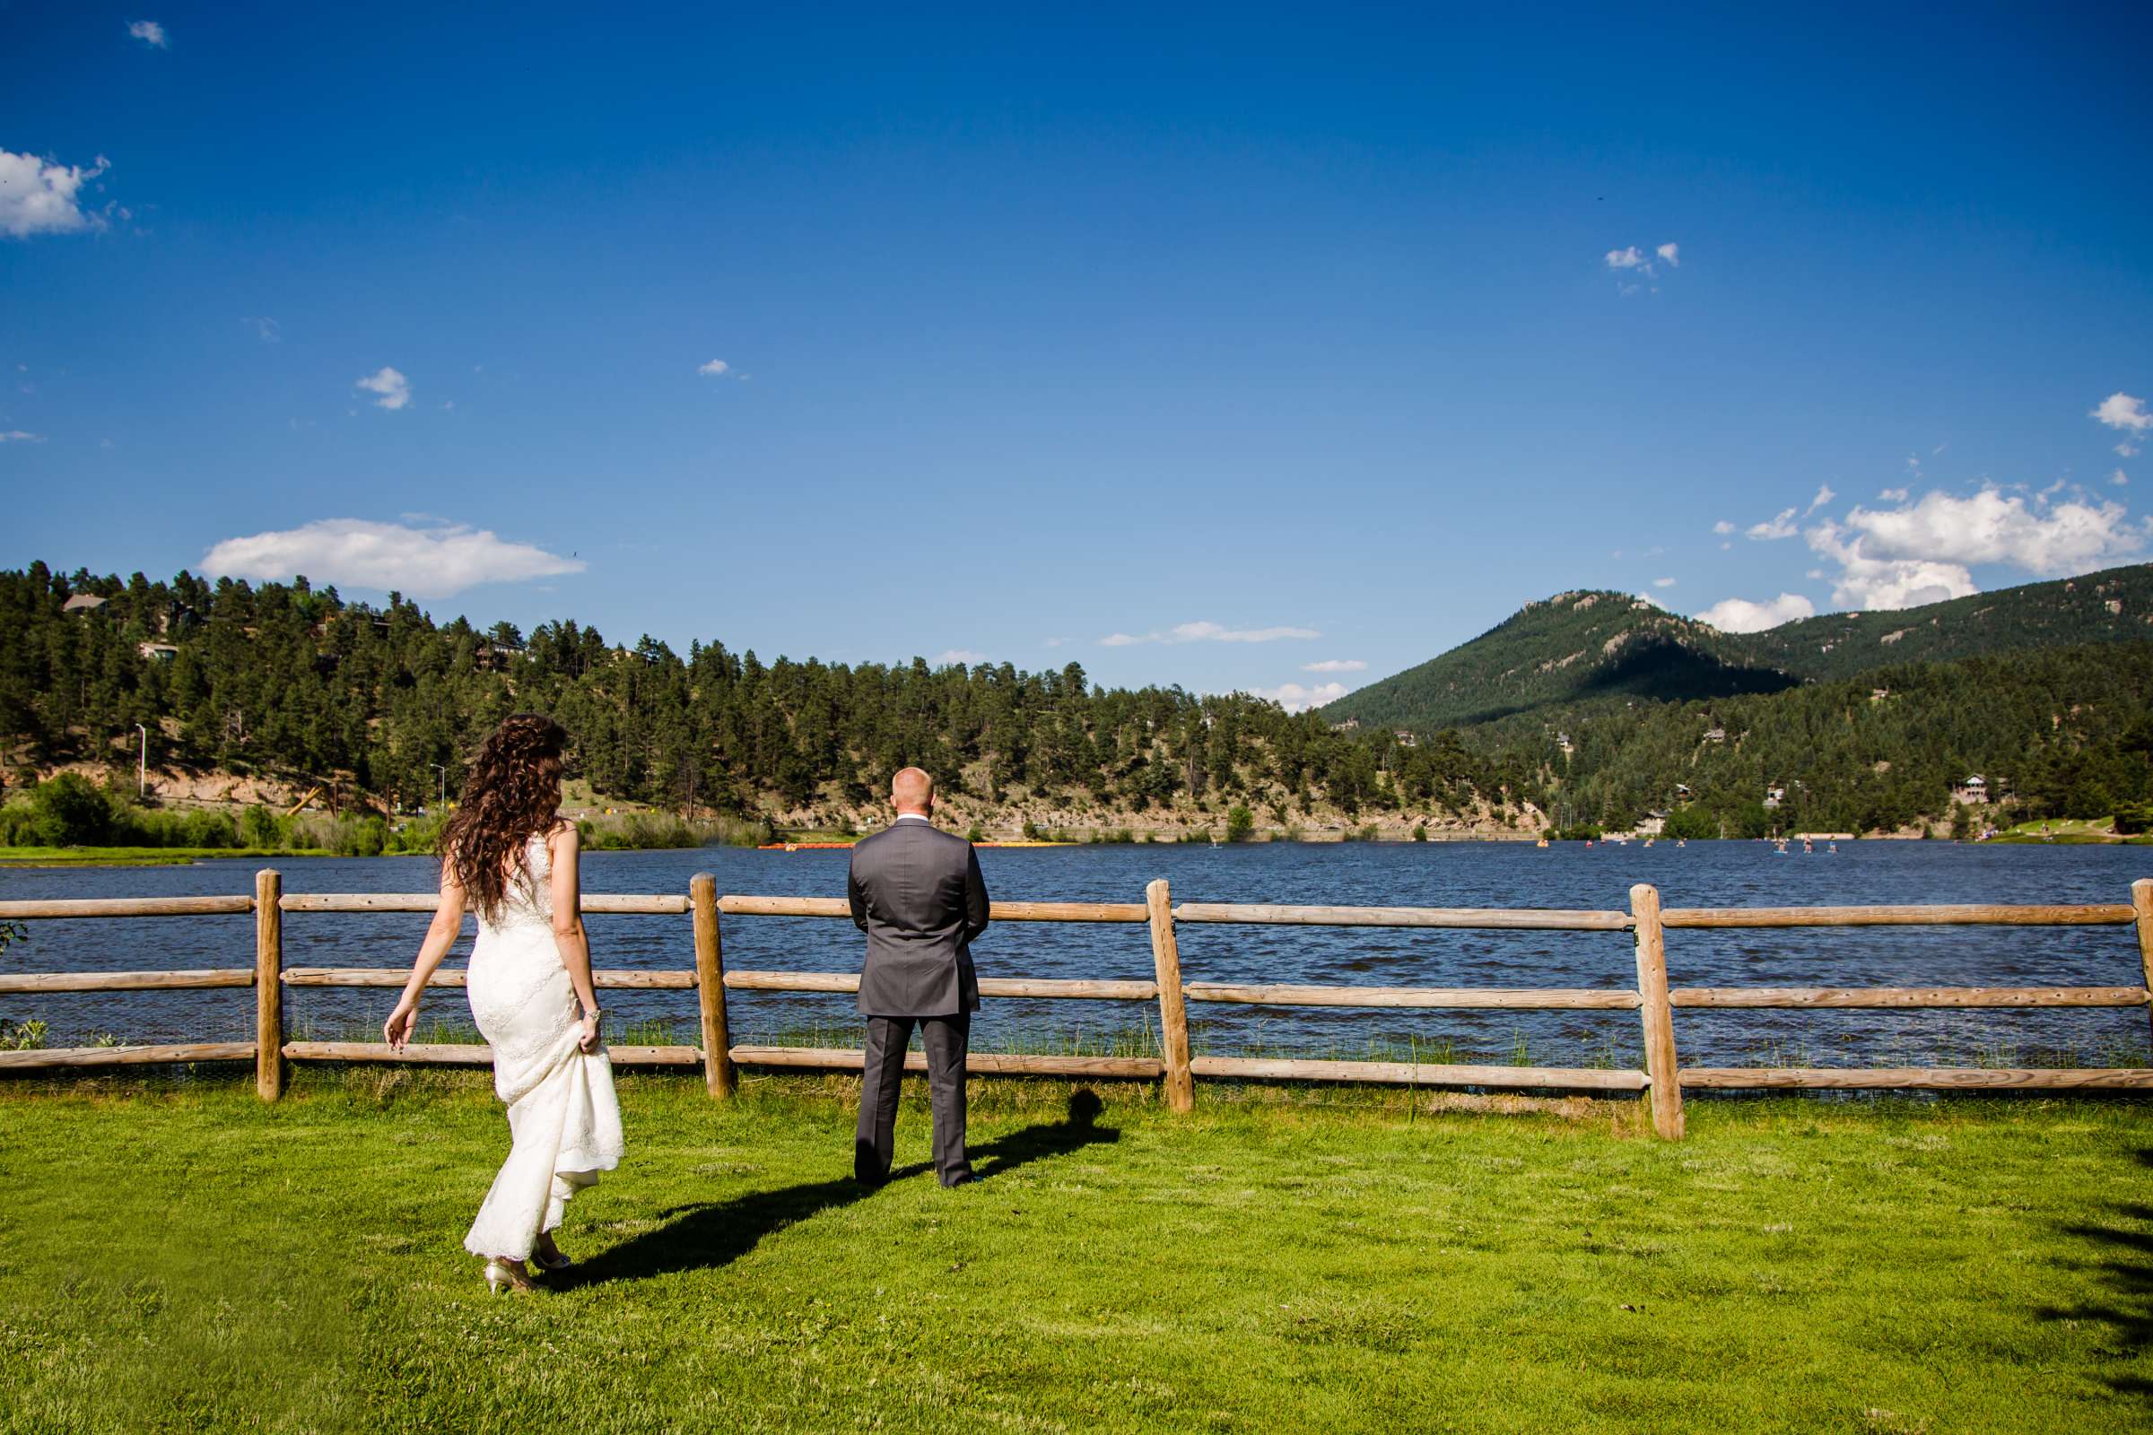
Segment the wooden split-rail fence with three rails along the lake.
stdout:
[[[80,917],[205,917],[254,914],[254,966],[159,972],[0,972],[0,992],[149,992],[198,988],[254,988],[254,1041],[194,1041],[174,1046],[93,1046],[0,1052],[0,1071],[103,1065],[157,1065],[196,1061],[252,1061],[265,1102],[284,1091],[293,1061],[405,1061],[482,1065],[484,1046],[435,1043],[392,1052],[377,1041],[286,1041],[284,988],[400,988],[403,968],[284,966],[286,912],[433,912],[433,893],[284,893],[276,871],[261,871],[252,895],[233,897],[105,897],[82,901],[0,901],[0,921]],[[861,1067],[857,1050],[734,1046],[726,992],[857,992],[855,972],[726,970],[721,917],[848,917],[838,897],[721,897],[708,873],[689,882],[687,895],[583,895],[588,914],[657,914],[693,921],[693,970],[596,970],[599,988],[695,992],[702,1015],[700,1046],[611,1046],[620,1065],[700,1065],[713,1097],[730,1097],[738,1067]],[[1272,904],[1173,904],[1167,882],[1145,889],[1143,901],[997,901],[997,923],[1130,923],[1148,925],[1152,981],[1070,981],[982,977],[980,994],[1029,998],[1158,1003],[1156,1056],[1023,1056],[975,1052],[975,1074],[1029,1074],[1066,1078],[1160,1080],[1167,1104],[1188,1110],[1195,1078],[1389,1082],[1410,1086],[1486,1086],[1524,1091],[1628,1091],[1651,1102],[1654,1129],[1679,1138],[1686,1089],[2153,1089],[2144,1067],[1684,1067],[1675,1052],[1677,1009],[1783,1007],[1783,1009],[1916,1009],[1916,1007],[2147,1007],[2153,1015],[2153,878],[2131,884],[2131,901],[2114,906],[1839,906],[1839,908],[1662,908],[1651,884],[1630,889],[1630,910],[1567,908],[1369,908]],[[1184,981],[1176,929],[1184,923],[1247,923],[1307,927],[1449,927],[1630,932],[1636,942],[1634,988],[1354,988]],[[1669,988],[1666,932],[1684,927],[2101,927],[2136,925],[2140,972],[2136,985],[2116,988]],[[437,988],[463,985],[461,970],[439,970]],[[1268,1056],[1191,1056],[1188,1003],[1242,1003],[1257,1007],[1447,1007],[1511,1011],[1638,1013],[1643,1069],[1613,1067],[1496,1067],[1412,1061],[1305,1061]],[[911,1052],[906,1069],[924,1069]]]

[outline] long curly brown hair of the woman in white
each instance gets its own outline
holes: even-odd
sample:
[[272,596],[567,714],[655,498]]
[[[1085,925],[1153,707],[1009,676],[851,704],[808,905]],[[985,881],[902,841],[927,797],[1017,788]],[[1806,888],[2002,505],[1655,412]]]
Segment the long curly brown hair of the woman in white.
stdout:
[[568,731],[538,712],[502,719],[472,757],[463,800],[441,824],[441,871],[491,921],[508,884],[530,878],[530,839],[560,813],[560,753]]

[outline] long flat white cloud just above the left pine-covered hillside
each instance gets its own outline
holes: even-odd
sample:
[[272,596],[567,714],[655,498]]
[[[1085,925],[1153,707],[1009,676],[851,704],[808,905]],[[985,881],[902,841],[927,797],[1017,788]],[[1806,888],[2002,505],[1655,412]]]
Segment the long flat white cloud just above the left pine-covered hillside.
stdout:
[[508,542],[491,529],[461,523],[411,527],[366,518],[319,518],[295,529],[226,538],[202,555],[202,570],[235,579],[291,579],[398,589],[416,598],[448,598],[478,583],[521,583],[588,564],[545,549]]

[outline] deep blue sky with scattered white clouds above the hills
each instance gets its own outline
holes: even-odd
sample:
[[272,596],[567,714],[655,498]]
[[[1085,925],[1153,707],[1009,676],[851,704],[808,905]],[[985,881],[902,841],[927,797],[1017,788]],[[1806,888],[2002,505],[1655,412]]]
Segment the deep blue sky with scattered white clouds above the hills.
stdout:
[[0,564],[1311,701],[2153,553],[2142,6],[1150,9],[17,0]]

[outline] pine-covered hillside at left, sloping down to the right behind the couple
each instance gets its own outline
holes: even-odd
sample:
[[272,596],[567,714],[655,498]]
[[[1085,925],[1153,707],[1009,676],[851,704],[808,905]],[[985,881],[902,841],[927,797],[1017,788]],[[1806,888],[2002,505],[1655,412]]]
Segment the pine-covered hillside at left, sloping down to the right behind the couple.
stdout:
[[1212,794],[1281,811],[1404,798],[1462,809],[1524,783],[1455,742],[1378,772],[1369,744],[1318,714],[1096,688],[1074,663],[1046,673],[762,663],[723,643],[622,648],[573,620],[527,637],[437,624],[413,602],[344,602],[304,579],[0,574],[0,744],[17,781],[67,759],[131,766],[142,723],[153,768],[278,772],[409,807],[435,792],[435,764],[454,794],[463,757],[517,708],[568,727],[573,772],[599,792],[676,809],[863,805],[904,764],[988,802],[1021,794],[1117,811]]

